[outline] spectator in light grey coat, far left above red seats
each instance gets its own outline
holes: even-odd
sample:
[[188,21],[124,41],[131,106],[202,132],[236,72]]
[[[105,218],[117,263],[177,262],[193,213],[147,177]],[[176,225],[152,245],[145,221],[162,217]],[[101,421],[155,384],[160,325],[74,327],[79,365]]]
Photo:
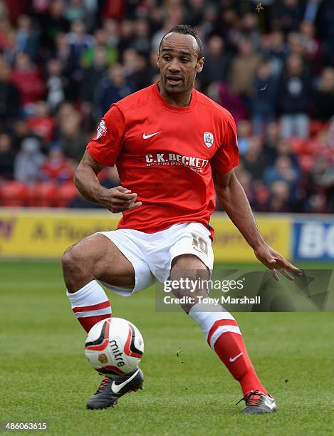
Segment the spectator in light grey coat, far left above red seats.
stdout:
[[41,167],[45,156],[41,153],[36,138],[27,137],[22,141],[21,150],[14,162],[14,176],[19,182],[32,183],[41,179]]

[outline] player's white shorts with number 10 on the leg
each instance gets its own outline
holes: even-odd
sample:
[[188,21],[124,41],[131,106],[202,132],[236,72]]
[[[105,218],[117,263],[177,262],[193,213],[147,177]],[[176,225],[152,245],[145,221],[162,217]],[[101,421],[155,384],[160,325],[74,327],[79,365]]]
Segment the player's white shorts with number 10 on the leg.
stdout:
[[169,277],[174,257],[194,254],[212,271],[214,253],[210,232],[203,224],[186,222],[174,224],[162,232],[144,233],[133,229],[118,229],[104,234],[131,262],[135,270],[135,287],[113,286],[102,282],[108,289],[122,296],[147,289],[157,279]]

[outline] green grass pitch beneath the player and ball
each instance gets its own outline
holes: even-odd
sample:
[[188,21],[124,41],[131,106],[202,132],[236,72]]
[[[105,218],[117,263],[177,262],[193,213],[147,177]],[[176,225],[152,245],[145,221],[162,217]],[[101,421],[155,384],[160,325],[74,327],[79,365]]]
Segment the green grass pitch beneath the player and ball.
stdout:
[[48,422],[50,435],[333,434],[333,313],[235,314],[279,409],[244,416],[239,383],[192,320],[156,312],[152,291],[110,294],[114,315],[145,339],[145,389],[86,410],[100,376],[85,360],[60,264],[1,261],[0,277],[0,421]]

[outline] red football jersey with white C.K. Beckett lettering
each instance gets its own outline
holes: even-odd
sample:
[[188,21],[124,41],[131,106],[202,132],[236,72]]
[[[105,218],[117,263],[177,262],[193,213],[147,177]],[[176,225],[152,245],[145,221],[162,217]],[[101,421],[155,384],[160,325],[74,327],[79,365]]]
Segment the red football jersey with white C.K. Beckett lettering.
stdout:
[[123,212],[118,228],[154,233],[182,222],[209,227],[216,206],[212,168],[239,164],[232,115],[192,91],[189,106],[163,100],[157,83],[111,106],[87,146],[103,165],[116,164],[120,183],[142,206]]

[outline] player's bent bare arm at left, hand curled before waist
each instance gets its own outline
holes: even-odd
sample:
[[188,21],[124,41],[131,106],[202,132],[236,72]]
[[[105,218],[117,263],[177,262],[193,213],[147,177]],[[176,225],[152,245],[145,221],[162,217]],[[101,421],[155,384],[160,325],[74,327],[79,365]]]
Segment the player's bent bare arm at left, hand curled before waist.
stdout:
[[80,194],[89,202],[101,204],[110,212],[117,213],[136,209],[142,205],[137,202],[137,194],[126,187],[105,188],[98,181],[98,173],[104,165],[96,161],[86,150],[75,170],[74,183]]

